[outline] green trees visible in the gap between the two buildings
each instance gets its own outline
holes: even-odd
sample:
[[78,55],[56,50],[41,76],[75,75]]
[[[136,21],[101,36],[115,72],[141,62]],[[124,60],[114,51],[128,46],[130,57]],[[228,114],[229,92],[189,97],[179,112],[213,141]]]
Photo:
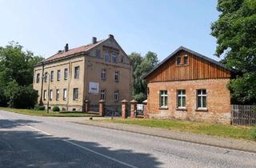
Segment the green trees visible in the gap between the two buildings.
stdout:
[[138,102],[146,99],[146,81],[142,77],[150,72],[158,64],[158,55],[149,51],[145,57],[141,54],[131,53],[129,55],[133,67],[133,97]]

